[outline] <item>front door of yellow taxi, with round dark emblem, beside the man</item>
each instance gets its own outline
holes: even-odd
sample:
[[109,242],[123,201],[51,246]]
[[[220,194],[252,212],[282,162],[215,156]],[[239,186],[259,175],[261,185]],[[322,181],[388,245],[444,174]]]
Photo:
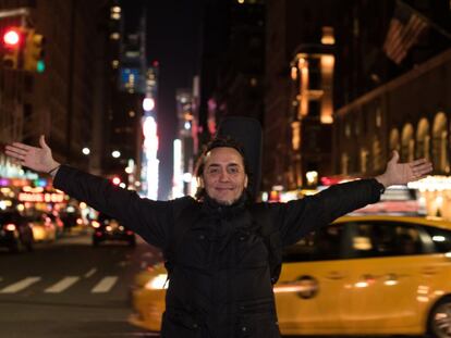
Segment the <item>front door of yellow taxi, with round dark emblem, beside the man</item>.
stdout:
[[342,227],[331,225],[285,251],[275,286],[282,335],[326,335],[340,329],[343,283],[350,275],[340,261],[341,237]]

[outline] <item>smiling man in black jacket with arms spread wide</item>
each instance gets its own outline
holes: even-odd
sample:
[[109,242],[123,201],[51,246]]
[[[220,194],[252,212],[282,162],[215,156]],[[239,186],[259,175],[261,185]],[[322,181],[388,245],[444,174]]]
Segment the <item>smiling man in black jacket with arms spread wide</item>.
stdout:
[[[375,178],[334,185],[288,203],[255,203],[246,193],[252,173],[242,149],[231,139],[215,139],[200,159],[196,199],[153,201],[58,163],[44,136],[39,143],[14,142],[5,153],[49,173],[57,189],[120,220],[169,258],[162,338],[280,337],[272,292],[278,252],[271,251],[280,253],[309,231],[379,201],[387,187],[432,170],[424,159],[399,163],[393,152],[385,173]],[[265,222],[273,233],[268,235]]]

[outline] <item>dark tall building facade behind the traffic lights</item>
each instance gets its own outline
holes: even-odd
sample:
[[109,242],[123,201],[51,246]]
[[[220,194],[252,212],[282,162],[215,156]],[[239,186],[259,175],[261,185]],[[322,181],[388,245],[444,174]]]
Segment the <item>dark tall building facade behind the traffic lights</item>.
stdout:
[[[45,71],[0,68],[1,142],[36,145],[45,134],[57,160],[90,170],[82,149],[90,147],[95,121],[103,114],[105,32],[108,1],[1,1],[0,11],[26,9],[0,21],[35,29],[45,38]],[[49,20],[51,17],[51,20]],[[3,157],[3,155],[1,155]],[[93,152],[89,159],[99,158]],[[97,162],[98,163],[98,162]],[[11,166],[2,158],[3,166]]]

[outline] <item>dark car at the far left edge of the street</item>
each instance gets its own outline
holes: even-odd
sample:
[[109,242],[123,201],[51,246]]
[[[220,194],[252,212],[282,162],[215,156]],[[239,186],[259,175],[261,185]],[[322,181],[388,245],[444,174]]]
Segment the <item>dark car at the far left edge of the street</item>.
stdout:
[[0,247],[12,252],[32,251],[33,242],[33,230],[17,211],[0,212]]

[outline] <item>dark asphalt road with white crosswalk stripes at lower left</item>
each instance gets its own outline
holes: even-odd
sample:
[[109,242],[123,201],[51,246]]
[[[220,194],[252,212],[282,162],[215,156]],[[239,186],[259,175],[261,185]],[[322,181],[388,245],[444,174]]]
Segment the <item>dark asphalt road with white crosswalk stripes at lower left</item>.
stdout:
[[158,337],[129,324],[133,276],[159,260],[135,248],[94,248],[88,235],[0,252],[0,337]]

